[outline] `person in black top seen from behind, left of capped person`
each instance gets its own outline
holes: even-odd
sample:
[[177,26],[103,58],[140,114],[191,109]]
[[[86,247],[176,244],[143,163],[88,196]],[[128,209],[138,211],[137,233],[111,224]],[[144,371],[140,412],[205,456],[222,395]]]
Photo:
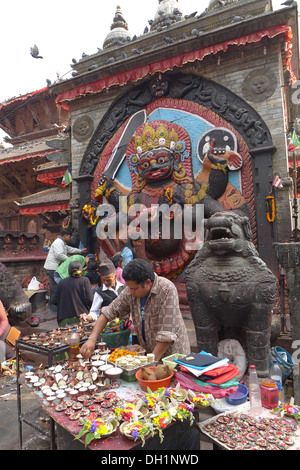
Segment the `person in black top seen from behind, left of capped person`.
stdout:
[[69,264],[69,277],[57,284],[53,297],[57,305],[57,323],[65,326],[80,322],[80,316],[89,311],[93,302],[93,292],[89,279],[82,276],[80,261]]

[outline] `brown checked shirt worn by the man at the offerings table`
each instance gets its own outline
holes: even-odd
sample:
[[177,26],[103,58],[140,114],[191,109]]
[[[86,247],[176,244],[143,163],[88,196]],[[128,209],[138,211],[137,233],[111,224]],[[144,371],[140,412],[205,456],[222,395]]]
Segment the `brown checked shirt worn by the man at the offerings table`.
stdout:
[[174,284],[157,276],[152,284],[145,304],[145,341],[142,335],[141,299],[130,294],[126,287],[123,292],[102,313],[108,321],[116,317],[125,318],[131,314],[139,344],[152,352],[157,342],[171,343],[164,357],[171,354],[189,354],[190,343],[185,323],[179,308],[179,298]]

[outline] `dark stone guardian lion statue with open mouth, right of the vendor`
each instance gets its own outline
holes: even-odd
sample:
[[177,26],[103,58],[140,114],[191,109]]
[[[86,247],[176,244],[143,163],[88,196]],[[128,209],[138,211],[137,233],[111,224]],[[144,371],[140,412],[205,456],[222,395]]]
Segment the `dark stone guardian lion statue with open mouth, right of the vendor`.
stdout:
[[185,271],[186,291],[199,350],[216,355],[220,339],[234,335],[265,377],[277,285],[251,240],[247,217],[210,217],[203,247]]

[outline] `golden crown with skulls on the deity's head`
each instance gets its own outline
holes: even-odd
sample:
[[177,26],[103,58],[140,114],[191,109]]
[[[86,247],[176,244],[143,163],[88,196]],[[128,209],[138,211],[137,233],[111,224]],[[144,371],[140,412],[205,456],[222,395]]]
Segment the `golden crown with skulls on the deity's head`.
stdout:
[[142,135],[135,136],[134,148],[139,155],[159,147],[173,150],[177,141],[178,134],[174,129],[168,131],[162,123],[155,129],[147,122]]

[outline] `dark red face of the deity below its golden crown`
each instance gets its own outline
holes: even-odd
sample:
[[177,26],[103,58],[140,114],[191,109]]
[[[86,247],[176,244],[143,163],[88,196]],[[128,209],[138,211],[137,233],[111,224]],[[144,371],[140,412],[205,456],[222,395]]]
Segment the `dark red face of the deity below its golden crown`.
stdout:
[[169,178],[173,173],[173,152],[167,148],[148,150],[140,156],[138,173],[149,183]]

